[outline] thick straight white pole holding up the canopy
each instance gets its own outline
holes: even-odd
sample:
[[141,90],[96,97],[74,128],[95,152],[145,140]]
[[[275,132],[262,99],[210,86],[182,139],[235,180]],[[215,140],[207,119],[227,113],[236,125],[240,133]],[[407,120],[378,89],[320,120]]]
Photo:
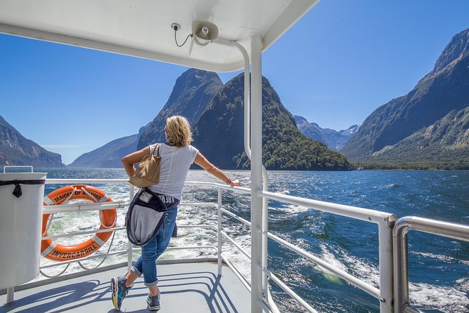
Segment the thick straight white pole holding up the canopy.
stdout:
[[251,313],[262,312],[262,39],[251,37]]

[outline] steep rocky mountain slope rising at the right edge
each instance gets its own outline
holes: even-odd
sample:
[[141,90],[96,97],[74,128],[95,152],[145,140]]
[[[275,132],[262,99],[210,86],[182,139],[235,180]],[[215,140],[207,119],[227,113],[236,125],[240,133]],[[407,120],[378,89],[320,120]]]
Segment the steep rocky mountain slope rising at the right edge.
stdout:
[[[433,151],[432,160],[442,157],[451,160],[451,155],[463,154],[464,148],[456,145],[458,136],[446,134],[455,127],[461,127],[461,133],[468,130],[468,125],[459,119],[465,116],[463,112],[468,106],[469,29],[466,29],[451,39],[433,70],[411,92],[369,115],[342,152],[355,161],[379,161],[385,156],[395,161],[423,161],[428,160],[425,153],[417,154],[403,147],[427,146],[425,151],[430,148]],[[450,121],[448,116],[453,115]],[[434,130],[440,133],[438,138],[446,139],[439,142],[423,139],[424,133]],[[415,142],[411,144],[412,141]],[[466,159],[469,160],[469,154]]]

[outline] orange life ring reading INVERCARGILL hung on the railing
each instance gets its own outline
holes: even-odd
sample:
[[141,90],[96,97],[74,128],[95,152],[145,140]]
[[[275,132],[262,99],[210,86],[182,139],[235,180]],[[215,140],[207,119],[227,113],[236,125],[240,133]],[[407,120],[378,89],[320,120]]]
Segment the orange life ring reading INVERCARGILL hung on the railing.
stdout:
[[[86,185],[71,185],[50,192],[44,197],[43,205],[50,206],[64,204],[70,200],[88,200],[91,202],[110,202],[112,199],[101,189]],[[50,214],[42,216],[42,234],[47,236],[46,227]],[[107,229],[116,225],[117,213],[115,208],[100,211],[100,229]],[[93,237],[76,246],[64,246],[55,244],[52,239],[41,241],[41,255],[55,261],[67,261],[77,258],[84,258],[95,253],[111,237],[112,231],[100,232]]]

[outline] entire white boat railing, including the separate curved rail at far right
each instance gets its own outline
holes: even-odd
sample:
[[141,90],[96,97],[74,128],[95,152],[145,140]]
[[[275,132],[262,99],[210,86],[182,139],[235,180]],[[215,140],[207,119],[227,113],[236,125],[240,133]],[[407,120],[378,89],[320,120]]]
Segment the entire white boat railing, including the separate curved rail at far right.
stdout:
[[[127,180],[83,180],[83,179],[47,179],[47,185],[63,185],[63,184],[128,184]],[[205,228],[205,229],[214,229],[217,232],[217,245],[205,245],[205,246],[177,246],[170,247],[168,250],[181,250],[181,249],[211,249],[217,253],[217,264],[218,264],[218,274],[222,274],[222,262],[224,262],[228,267],[233,270],[233,273],[236,274],[236,277],[240,279],[241,283],[248,291],[251,292],[250,281],[243,276],[240,269],[233,265],[233,262],[229,260],[223,251],[223,239],[229,241],[234,247],[240,251],[245,257],[250,260],[250,262],[255,262],[261,266],[262,272],[269,277],[271,281],[277,284],[280,288],[290,295],[294,300],[296,300],[301,307],[306,309],[308,312],[316,312],[316,310],[311,307],[304,299],[302,299],[297,293],[295,293],[289,286],[287,286],[283,281],[278,279],[278,276],[264,266],[264,258],[266,255],[261,255],[261,258],[256,259],[253,257],[250,251],[247,251],[246,248],[243,248],[235,239],[229,236],[223,229],[222,216],[225,215],[228,218],[232,218],[247,227],[252,228],[252,223],[235,213],[230,212],[222,206],[222,191],[230,190],[231,192],[241,193],[250,195],[251,189],[245,187],[229,187],[227,185],[221,185],[214,182],[186,182],[186,186],[205,186],[217,189],[217,204],[215,203],[182,203],[179,206],[201,206],[208,208],[217,208],[217,224],[203,224],[203,225],[178,225],[181,228]],[[276,241],[280,246],[301,255],[306,260],[310,260],[316,265],[327,269],[329,272],[336,274],[341,279],[348,281],[349,284],[362,289],[363,291],[369,293],[370,295],[377,298],[380,302],[380,312],[419,312],[419,310],[411,307],[409,305],[409,281],[407,277],[408,265],[407,265],[407,232],[409,230],[416,230],[419,232],[426,232],[430,234],[436,234],[444,237],[449,237],[453,239],[469,241],[469,227],[466,225],[458,225],[449,222],[442,222],[438,220],[428,220],[423,218],[416,217],[405,217],[397,220],[394,214],[384,213],[381,211],[369,210],[367,208],[358,208],[353,206],[344,206],[341,204],[332,204],[323,201],[317,201],[312,199],[304,199],[300,197],[292,197],[285,194],[279,194],[275,192],[266,192],[259,191],[259,197],[264,199],[270,199],[274,201],[280,201],[287,204],[294,204],[297,206],[303,206],[305,208],[311,208],[317,211],[332,213],[335,215],[341,215],[347,218],[353,218],[355,220],[362,220],[365,222],[372,222],[378,225],[378,234],[379,234],[379,288],[368,284],[366,281],[355,277],[348,272],[335,267],[334,265],[318,258],[312,253],[308,253],[303,249],[294,246],[288,241],[281,239],[280,237],[272,234],[271,232],[266,232],[264,229],[258,229],[263,236],[270,238],[273,241]],[[132,199],[134,196],[134,187],[130,185],[129,188],[129,199]],[[44,206],[43,214],[53,214],[53,213],[74,213],[74,212],[83,212],[83,211],[100,211],[107,210],[109,208],[118,208],[125,209],[128,208],[129,201],[113,201],[113,202],[104,202],[93,203],[93,204],[63,204],[63,205],[53,205],[53,206]],[[264,223],[263,223],[264,225]],[[64,234],[53,234],[48,236],[43,236],[42,239],[58,239],[64,237],[74,237],[82,236],[86,234],[97,234],[101,232],[114,232],[114,231],[123,231],[125,227],[111,227],[109,229],[101,230],[88,230],[81,232],[68,232]],[[113,237],[114,239],[114,237]],[[94,260],[99,258],[104,258],[99,265],[102,265],[102,262],[109,257],[114,255],[128,255],[128,268],[132,266],[133,253],[140,251],[140,248],[134,248],[130,243],[128,248],[120,251],[110,251],[112,246],[109,244],[109,249],[106,253],[97,253],[95,255],[89,255],[86,258],[79,258],[74,260],[67,260],[62,262],[54,262],[52,264],[41,265],[41,273],[45,277],[49,277],[47,274],[42,272],[42,269],[48,269],[52,267],[57,267],[61,265],[67,265],[65,269],[60,273],[63,274],[69,265],[77,262],[83,269],[88,269],[85,267],[82,262],[87,260]],[[264,249],[263,249],[264,250]],[[393,252],[394,251],[394,252]],[[94,268],[96,268],[94,267]],[[56,275],[59,276],[60,274]],[[56,277],[54,276],[54,277]],[[7,293],[7,302],[10,299],[10,302],[13,301],[13,292],[14,288],[8,288]],[[271,305],[269,299],[265,297],[266,291],[264,291],[264,297],[258,300],[259,305],[266,312],[278,312],[276,307]],[[394,307],[393,307],[394,305]]]

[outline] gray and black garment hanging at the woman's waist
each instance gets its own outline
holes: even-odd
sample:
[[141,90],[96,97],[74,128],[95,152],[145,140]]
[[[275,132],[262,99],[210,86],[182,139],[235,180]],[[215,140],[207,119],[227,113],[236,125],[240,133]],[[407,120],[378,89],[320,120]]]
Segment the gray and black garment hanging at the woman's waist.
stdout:
[[[179,201],[177,201],[179,202]],[[173,202],[170,206],[174,206]],[[168,207],[149,189],[140,189],[130,202],[125,215],[125,228],[128,240],[135,246],[144,246],[153,239],[160,227],[164,227],[164,220]]]

